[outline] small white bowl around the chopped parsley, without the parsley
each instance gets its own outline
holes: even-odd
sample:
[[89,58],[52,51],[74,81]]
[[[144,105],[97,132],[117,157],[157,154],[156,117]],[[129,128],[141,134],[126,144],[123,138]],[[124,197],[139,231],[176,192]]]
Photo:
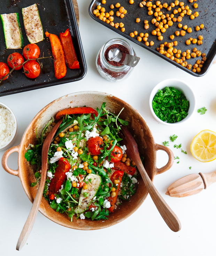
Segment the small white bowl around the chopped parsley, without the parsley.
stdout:
[[[182,91],[183,94],[185,95],[186,99],[189,101],[188,115],[182,121],[179,121],[176,123],[167,123],[167,122],[162,121],[160,118],[158,118],[156,116],[156,114],[154,113],[154,110],[152,108],[152,101],[155,97],[155,94],[158,92],[159,89],[163,90],[167,86],[174,87],[177,90]],[[176,126],[176,125],[180,125],[180,124],[186,122],[193,115],[195,108],[196,108],[196,99],[195,99],[194,92],[189,85],[187,85],[186,83],[184,83],[183,81],[178,80],[178,79],[167,79],[167,80],[164,80],[164,81],[160,82],[159,84],[157,84],[154,87],[154,89],[152,90],[152,92],[150,94],[150,98],[149,98],[149,107],[151,109],[152,115],[158,122],[160,122],[164,125]]]

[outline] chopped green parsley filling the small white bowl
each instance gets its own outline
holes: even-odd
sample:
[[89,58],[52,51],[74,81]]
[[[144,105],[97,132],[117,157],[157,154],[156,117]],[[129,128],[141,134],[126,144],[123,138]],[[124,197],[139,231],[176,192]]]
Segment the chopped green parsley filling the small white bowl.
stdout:
[[152,108],[158,118],[164,122],[175,123],[186,118],[189,101],[181,91],[174,87],[159,90],[153,101]]

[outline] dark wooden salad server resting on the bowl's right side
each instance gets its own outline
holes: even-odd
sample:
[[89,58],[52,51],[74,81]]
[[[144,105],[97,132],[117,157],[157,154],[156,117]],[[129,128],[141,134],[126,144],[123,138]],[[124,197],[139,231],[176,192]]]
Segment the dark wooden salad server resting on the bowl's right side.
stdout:
[[149,178],[140,159],[137,143],[134,140],[133,136],[131,135],[129,130],[123,125],[121,125],[121,130],[119,131],[118,135],[122,138],[122,144],[125,145],[127,148],[126,154],[131,159],[133,159],[134,163],[136,164],[142,176],[142,179],[144,180],[145,186],[162,218],[172,231],[178,232],[181,229],[181,223],[176,214],[170,209],[168,204],[164,201],[159,192],[156,190],[151,179]]

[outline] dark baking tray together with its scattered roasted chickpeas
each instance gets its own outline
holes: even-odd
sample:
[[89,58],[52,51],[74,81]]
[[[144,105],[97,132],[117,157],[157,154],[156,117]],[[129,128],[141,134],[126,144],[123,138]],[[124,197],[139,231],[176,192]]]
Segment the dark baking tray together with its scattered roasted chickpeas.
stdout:
[[215,0],[93,0],[89,13],[193,76],[203,76],[214,62]]

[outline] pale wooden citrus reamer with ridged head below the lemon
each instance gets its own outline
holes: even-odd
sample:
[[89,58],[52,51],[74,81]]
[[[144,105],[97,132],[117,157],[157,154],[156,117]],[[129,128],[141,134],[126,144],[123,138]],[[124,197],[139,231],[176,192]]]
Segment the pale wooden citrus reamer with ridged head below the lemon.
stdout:
[[166,195],[170,197],[188,197],[200,193],[215,182],[216,171],[190,174],[173,182],[167,188]]

